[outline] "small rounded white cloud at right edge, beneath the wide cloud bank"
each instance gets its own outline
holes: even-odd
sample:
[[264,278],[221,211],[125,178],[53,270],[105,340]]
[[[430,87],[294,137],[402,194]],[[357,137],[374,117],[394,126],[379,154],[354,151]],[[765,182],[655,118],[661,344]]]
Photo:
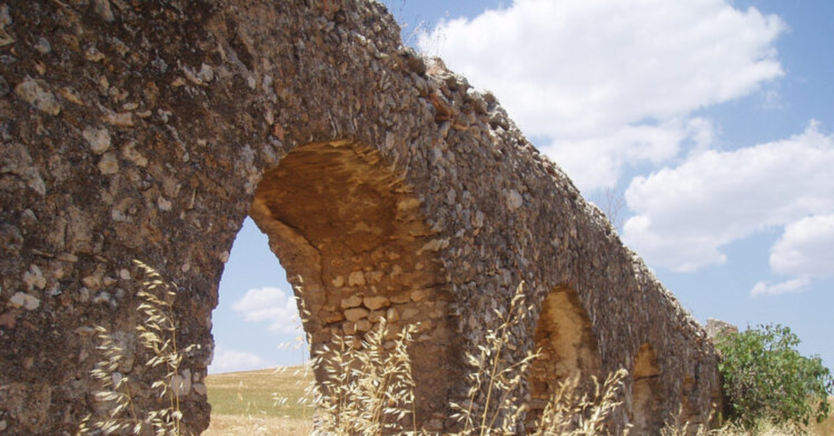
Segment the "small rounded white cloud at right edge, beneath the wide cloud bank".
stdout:
[[[830,177],[834,178],[834,169]],[[834,213],[802,218],[785,228],[771,248],[776,273],[801,277],[834,275]]]

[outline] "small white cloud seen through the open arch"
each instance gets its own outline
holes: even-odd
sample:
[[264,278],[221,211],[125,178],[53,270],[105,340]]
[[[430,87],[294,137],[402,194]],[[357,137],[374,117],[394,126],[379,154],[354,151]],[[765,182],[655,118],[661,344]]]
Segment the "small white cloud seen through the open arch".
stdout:
[[295,298],[288,297],[280,288],[249,289],[243,298],[232,304],[243,313],[244,320],[268,322],[269,330],[276,333],[299,333],[299,308]]

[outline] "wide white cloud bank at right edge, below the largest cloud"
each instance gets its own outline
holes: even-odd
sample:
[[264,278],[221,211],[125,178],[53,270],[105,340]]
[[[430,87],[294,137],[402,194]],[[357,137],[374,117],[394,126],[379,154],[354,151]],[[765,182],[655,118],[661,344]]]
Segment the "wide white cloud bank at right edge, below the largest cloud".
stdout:
[[[623,238],[653,265],[694,271],[725,262],[727,243],[786,225],[771,265],[781,273],[817,273],[820,264],[796,262],[824,251],[808,232],[831,233],[831,168],[834,136],[820,133],[815,121],[783,141],[693,153],[677,168],[632,180],[625,200],[636,215],[625,222]],[[803,219],[809,215],[821,218]]]

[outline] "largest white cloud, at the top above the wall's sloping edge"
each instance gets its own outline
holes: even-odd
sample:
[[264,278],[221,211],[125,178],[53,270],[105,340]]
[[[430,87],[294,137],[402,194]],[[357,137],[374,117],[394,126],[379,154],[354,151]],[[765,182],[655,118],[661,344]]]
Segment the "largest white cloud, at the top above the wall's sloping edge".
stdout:
[[450,68],[492,90],[583,189],[625,165],[711,141],[696,109],[745,96],[783,72],[780,18],[727,0],[516,0],[420,36]]

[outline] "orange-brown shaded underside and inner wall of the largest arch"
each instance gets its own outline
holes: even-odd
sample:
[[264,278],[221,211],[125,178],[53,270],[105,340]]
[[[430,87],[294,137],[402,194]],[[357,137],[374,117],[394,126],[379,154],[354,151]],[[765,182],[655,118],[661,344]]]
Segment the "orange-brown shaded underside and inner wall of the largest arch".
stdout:
[[306,144],[264,173],[249,216],[303,303],[314,353],[336,335],[360,337],[382,318],[390,339],[405,324],[418,325],[409,353],[417,418],[425,423],[445,409],[460,338],[447,321],[450,294],[435,257],[442,241],[391,168],[357,143]]

